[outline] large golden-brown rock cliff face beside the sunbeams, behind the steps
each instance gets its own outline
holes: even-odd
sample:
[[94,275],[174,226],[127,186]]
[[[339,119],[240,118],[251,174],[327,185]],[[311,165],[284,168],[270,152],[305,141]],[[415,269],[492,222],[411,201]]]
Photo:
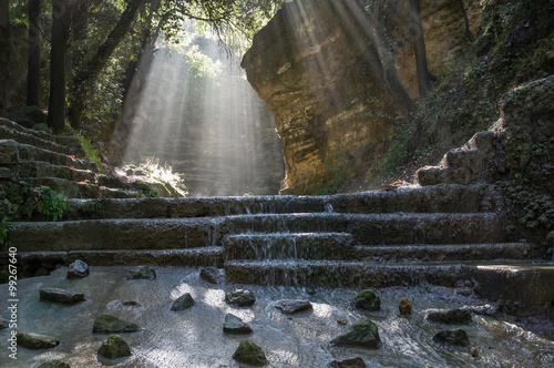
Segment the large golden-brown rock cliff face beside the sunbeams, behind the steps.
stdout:
[[[468,17],[459,0],[422,1],[433,75],[468,47],[466,18],[475,32],[479,1],[464,4]],[[372,16],[356,0],[296,0],[256,34],[242,65],[276,117],[286,163],[281,193],[343,183],[386,150],[408,109],[391,86],[387,60],[410,96],[418,93],[411,17],[408,0],[382,1]]]

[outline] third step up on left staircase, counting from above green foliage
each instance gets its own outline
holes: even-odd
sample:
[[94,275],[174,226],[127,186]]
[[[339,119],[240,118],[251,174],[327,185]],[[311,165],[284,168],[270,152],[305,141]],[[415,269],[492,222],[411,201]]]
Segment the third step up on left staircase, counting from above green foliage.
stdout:
[[18,143],[13,140],[0,140],[0,165],[14,165],[25,161],[41,161],[79,170],[98,171],[96,166],[89,160]]

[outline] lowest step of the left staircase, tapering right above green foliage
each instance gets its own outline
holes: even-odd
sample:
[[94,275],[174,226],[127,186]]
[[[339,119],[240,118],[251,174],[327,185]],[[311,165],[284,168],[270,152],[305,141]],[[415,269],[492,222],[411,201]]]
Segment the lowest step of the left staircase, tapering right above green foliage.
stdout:
[[69,198],[136,198],[140,195],[135,191],[111,188],[61,177],[23,177],[22,180],[32,186],[50,186],[53,191],[61,192]]

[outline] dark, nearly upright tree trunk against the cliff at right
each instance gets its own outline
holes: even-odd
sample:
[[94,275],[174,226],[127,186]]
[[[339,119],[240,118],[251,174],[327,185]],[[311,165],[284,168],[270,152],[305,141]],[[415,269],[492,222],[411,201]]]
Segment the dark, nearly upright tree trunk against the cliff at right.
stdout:
[[431,91],[432,83],[427,65],[425,40],[423,37],[419,0],[410,0],[410,11],[414,29],[413,49],[416,51],[416,73],[418,75],[419,95],[424,98]]

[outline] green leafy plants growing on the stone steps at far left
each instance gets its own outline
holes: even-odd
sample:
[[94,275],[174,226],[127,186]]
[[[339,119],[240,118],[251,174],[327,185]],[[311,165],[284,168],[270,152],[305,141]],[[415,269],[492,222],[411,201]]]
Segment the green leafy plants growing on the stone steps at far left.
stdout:
[[44,215],[49,221],[59,221],[68,209],[68,197],[54,192],[50,186],[25,187],[27,202],[24,212],[32,217],[34,213]]

